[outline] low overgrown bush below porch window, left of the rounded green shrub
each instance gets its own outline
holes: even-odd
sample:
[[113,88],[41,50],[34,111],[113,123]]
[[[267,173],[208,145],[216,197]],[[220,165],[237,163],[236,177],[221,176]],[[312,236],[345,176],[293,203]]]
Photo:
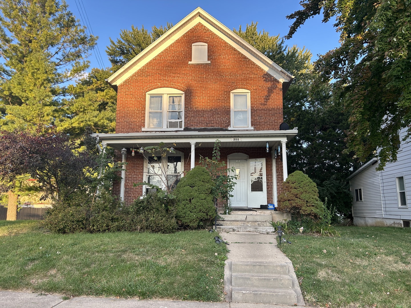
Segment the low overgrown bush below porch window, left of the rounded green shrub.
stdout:
[[116,225],[121,231],[149,231],[172,233],[177,230],[175,200],[168,196],[149,194],[121,211]]

